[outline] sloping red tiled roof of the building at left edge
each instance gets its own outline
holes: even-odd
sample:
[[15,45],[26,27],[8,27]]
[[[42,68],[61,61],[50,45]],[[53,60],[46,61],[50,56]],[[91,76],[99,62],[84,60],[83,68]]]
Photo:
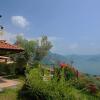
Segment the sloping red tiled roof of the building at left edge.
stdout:
[[0,40],[0,49],[9,49],[9,50],[23,50],[22,48],[16,46],[16,45],[12,45],[10,43],[7,43],[5,40]]

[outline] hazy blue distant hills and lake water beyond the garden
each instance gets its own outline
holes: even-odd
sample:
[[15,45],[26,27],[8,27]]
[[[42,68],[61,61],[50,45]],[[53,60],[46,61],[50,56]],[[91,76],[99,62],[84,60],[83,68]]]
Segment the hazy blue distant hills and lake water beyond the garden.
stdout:
[[83,73],[100,75],[100,55],[67,55],[49,53],[43,60],[45,64],[56,64],[57,62],[70,63],[73,61],[79,71]]

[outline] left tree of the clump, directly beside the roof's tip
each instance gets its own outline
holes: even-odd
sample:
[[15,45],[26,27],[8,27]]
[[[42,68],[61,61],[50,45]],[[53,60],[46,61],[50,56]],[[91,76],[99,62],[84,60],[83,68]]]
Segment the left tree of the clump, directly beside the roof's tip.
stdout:
[[34,58],[37,42],[34,40],[28,41],[22,36],[17,36],[15,44],[24,49],[24,52],[21,52],[16,55],[15,60],[21,64],[30,63],[30,61]]

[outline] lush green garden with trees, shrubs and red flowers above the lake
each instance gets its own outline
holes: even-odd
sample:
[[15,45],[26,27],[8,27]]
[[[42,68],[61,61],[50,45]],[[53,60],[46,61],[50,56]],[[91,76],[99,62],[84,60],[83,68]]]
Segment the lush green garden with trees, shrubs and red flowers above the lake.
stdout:
[[42,63],[52,47],[46,36],[40,42],[18,36],[15,44],[24,51],[9,54],[14,63],[0,64],[0,75],[20,84],[5,88],[1,100],[100,100],[99,78],[64,62],[52,66]]

